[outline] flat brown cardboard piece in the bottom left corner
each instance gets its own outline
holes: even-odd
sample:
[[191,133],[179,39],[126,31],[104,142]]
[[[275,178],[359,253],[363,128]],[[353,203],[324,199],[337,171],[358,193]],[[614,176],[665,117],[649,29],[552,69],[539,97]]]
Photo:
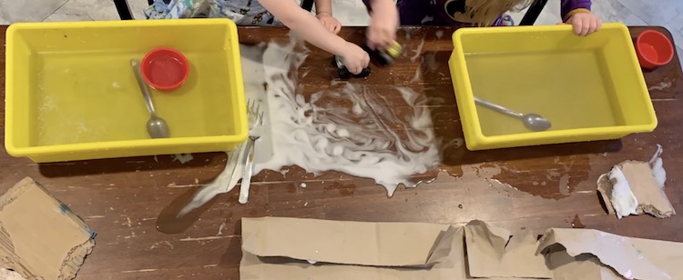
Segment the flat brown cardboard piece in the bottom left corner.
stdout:
[[26,177],[0,197],[0,267],[28,279],[73,279],[95,234]]

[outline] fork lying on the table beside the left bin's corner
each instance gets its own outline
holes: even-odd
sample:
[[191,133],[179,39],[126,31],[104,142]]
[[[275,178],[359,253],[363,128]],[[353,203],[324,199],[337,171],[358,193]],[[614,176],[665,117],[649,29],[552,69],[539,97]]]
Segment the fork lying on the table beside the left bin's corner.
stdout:
[[244,156],[244,171],[242,173],[242,183],[240,185],[240,204],[246,204],[249,201],[249,188],[251,185],[251,175],[254,170],[254,148],[256,141],[260,139],[260,128],[263,125],[263,112],[260,111],[260,102],[249,101],[249,139],[247,139],[247,146],[245,151],[247,155]]

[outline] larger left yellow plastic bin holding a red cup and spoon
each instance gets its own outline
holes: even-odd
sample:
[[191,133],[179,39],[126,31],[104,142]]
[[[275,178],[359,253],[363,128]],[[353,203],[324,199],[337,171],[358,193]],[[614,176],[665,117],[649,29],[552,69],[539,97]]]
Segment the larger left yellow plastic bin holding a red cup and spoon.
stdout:
[[[130,59],[161,46],[188,57],[189,78],[151,90],[170,130],[151,139]],[[229,151],[248,135],[241,71],[228,19],[10,25],[5,148],[38,163]]]

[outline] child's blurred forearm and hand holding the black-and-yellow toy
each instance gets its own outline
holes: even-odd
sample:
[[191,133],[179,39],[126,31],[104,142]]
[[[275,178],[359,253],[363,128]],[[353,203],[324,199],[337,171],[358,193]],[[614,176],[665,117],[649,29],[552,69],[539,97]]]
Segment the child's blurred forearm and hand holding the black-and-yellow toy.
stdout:
[[[425,0],[426,1],[426,0]],[[399,25],[398,8],[393,0],[363,0],[370,7],[370,26],[368,26],[368,46],[373,49],[386,49],[396,39]]]

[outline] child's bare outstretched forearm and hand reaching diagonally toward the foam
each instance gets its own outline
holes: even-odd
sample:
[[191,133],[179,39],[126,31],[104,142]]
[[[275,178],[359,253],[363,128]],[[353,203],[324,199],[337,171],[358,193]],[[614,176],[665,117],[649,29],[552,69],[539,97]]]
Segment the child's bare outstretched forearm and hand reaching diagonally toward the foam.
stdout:
[[[391,0],[390,0],[391,1]],[[266,10],[275,15],[283,25],[301,35],[304,40],[332,55],[340,55],[352,74],[361,73],[370,63],[370,55],[358,45],[346,42],[342,37],[325,29],[314,15],[302,9],[295,1],[260,0]]]

